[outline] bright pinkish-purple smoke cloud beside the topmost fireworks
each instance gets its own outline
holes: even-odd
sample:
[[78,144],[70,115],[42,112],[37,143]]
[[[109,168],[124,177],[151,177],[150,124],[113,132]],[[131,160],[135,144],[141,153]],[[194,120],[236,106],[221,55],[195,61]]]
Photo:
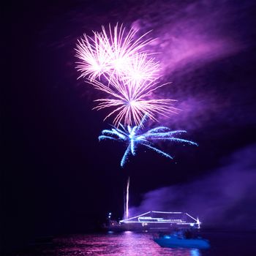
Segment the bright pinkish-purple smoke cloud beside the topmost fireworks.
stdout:
[[247,7],[234,7],[227,1],[156,1],[142,8],[142,18],[132,26],[153,29],[151,36],[157,39],[148,50],[159,53],[162,75],[172,75],[178,69],[192,71],[242,50],[244,42],[232,26],[243,8]]

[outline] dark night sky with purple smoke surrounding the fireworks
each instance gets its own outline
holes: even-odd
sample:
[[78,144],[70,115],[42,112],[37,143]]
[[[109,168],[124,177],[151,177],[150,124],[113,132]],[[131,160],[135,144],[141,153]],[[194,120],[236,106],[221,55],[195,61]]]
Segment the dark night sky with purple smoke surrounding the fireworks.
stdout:
[[[159,191],[160,197],[168,198],[166,192],[161,195],[165,187],[170,192],[176,189],[182,206],[172,193],[169,202],[159,199],[149,210],[187,207],[189,212],[204,215],[202,200],[220,198],[220,187],[230,186],[233,203],[223,210],[219,222],[241,208],[244,218],[252,217],[256,199],[252,186],[256,178],[253,2],[78,0],[10,4],[5,15],[11,23],[11,37],[5,38],[9,48],[2,49],[11,71],[3,84],[1,125],[4,245],[15,248],[39,236],[85,233],[103,222],[109,211],[121,218],[128,176],[134,211],[147,208],[148,192],[155,192],[154,202]],[[160,144],[173,155],[173,161],[140,148],[121,168],[125,146],[98,142],[100,131],[108,128],[111,120],[102,121],[105,110],[91,110],[99,93],[77,79],[74,48],[83,33],[117,22],[128,28],[136,24],[141,33],[153,29],[151,37],[157,37],[159,45],[168,49],[159,61],[165,70],[163,80],[173,83],[162,89],[162,94],[178,99],[177,107],[182,110],[159,121],[173,129],[187,129],[187,138],[199,144]],[[184,55],[178,59],[181,53]],[[230,176],[222,176],[225,169]],[[214,178],[217,173],[223,177],[222,184]],[[206,191],[206,187],[212,189]],[[184,203],[186,200],[189,203]],[[142,202],[146,203],[140,206]],[[229,202],[227,199],[223,204]],[[206,221],[207,217],[209,214]],[[240,222],[234,219],[233,223]],[[255,219],[253,225],[256,227]]]

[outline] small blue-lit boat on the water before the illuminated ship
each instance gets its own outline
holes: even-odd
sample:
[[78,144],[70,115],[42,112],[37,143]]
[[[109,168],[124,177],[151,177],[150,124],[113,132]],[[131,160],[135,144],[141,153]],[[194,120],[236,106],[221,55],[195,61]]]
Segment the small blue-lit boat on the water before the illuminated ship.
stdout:
[[183,238],[178,236],[162,236],[154,238],[154,241],[162,247],[184,247],[184,248],[197,248],[208,249],[210,244],[208,240],[203,238]]

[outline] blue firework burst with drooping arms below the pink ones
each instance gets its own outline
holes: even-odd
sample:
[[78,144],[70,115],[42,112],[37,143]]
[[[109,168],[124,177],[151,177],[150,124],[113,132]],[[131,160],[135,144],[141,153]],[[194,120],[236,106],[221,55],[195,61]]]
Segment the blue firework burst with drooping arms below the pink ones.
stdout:
[[191,140],[185,140],[175,137],[176,135],[186,133],[185,130],[171,131],[168,127],[156,127],[153,129],[149,129],[147,132],[143,133],[141,129],[143,128],[143,124],[145,123],[145,121],[146,116],[144,116],[142,121],[140,121],[139,126],[127,126],[127,128],[125,128],[122,124],[120,124],[120,129],[117,127],[113,127],[113,129],[102,130],[102,135],[99,136],[99,141],[109,139],[127,143],[127,150],[124,152],[124,156],[121,159],[121,167],[124,167],[130,154],[135,156],[136,150],[139,145],[146,146],[147,148],[150,148],[153,151],[162,154],[162,156],[168,157],[170,159],[173,159],[173,157],[171,157],[170,154],[167,154],[164,151],[156,148],[154,146],[154,143],[158,142],[159,140],[168,140],[172,142],[188,143],[190,145],[198,146],[197,143]]

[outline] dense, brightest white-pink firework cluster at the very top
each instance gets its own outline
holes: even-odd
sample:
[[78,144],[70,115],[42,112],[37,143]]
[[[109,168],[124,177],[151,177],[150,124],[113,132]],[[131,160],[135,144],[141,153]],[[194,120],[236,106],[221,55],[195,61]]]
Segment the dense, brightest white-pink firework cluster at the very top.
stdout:
[[80,59],[77,66],[80,77],[95,80],[104,75],[108,80],[115,76],[135,82],[154,79],[159,64],[154,58],[147,59],[148,54],[143,50],[152,39],[144,39],[148,33],[136,39],[138,31],[135,29],[126,32],[123,25],[117,24],[113,29],[109,25],[108,32],[102,26],[101,32],[93,31],[94,37],[84,34],[78,39],[75,50]]

